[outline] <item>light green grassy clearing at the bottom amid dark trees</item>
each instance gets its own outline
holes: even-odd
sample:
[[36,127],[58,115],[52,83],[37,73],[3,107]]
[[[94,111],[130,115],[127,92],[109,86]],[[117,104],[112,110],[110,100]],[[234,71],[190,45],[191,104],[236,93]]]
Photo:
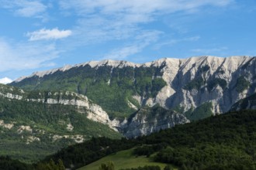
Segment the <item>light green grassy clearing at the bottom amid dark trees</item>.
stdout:
[[78,168],[79,170],[99,170],[99,166],[102,163],[113,162],[115,169],[121,168],[138,168],[145,165],[157,165],[163,169],[167,164],[154,162],[153,158],[147,158],[146,156],[133,155],[133,149],[119,151],[112,155],[99,159],[97,162],[93,162],[85,167]]

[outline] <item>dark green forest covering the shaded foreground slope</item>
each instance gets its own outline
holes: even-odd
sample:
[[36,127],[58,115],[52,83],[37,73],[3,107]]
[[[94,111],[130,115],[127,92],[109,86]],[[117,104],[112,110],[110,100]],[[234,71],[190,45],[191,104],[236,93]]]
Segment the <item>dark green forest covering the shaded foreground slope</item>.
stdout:
[[38,164],[59,165],[61,161],[67,168],[78,168],[116,151],[135,148],[134,155],[152,156],[155,162],[170,163],[179,169],[256,169],[255,123],[256,111],[242,110],[136,139],[92,138]]

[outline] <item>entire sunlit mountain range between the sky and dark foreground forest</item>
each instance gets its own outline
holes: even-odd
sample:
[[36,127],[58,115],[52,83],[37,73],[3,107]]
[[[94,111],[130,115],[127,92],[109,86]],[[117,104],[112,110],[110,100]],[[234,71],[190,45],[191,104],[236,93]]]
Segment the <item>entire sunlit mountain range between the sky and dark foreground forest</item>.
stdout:
[[108,59],[36,72],[0,86],[1,145],[7,146],[1,152],[41,145],[41,157],[24,158],[35,161],[92,137],[134,138],[255,108],[255,77],[250,56]]

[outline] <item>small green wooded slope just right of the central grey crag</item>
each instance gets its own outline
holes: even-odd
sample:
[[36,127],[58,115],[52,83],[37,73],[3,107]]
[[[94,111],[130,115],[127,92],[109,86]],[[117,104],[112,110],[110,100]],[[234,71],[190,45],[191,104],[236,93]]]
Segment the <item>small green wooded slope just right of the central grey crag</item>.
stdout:
[[213,115],[212,108],[213,104],[211,102],[206,102],[201,104],[199,107],[196,107],[195,110],[191,109],[186,111],[185,117],[187,117],[190,121],[204,119]]

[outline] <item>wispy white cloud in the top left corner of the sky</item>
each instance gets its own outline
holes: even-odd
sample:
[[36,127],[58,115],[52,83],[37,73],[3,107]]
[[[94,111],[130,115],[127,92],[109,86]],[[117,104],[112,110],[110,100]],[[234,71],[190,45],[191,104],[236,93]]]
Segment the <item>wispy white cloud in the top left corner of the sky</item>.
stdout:
[[47,6],[38,0],[0,0],[0,3],[2,6],[0,8],[8,8],[16,15],[23,17],[38,17],[47,10]]

